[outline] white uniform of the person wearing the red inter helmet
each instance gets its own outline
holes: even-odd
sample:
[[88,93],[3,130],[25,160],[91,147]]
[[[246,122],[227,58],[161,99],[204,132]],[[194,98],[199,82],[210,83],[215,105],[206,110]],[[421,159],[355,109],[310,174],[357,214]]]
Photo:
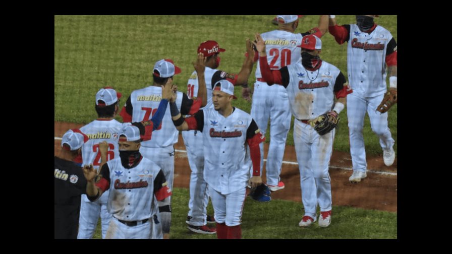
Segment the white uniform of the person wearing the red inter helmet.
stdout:
[[[205,68],[204,79],[207,90],[207,104],[203,109],[213,108],[212,102],[212,85],[218,80],[228,79],[232,81],[234,75]],[[198,96],[199,83],[196,71],[192,73],[187,83],[187,95],[189,98]],[[187,157],[190,164],[190,201],[188,203],[188,216],[191,217],[187,221],[192,226],[206,225],[207,221],[207,204],[209,202],[207,182],[204,180],[204,145],[203,137],[199,131],[182,132],[185,147],[187,148]]]

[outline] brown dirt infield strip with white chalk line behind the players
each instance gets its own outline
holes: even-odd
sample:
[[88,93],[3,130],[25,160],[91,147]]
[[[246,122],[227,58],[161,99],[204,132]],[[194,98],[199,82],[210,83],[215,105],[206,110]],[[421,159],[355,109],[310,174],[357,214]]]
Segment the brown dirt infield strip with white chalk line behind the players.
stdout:
[[[67,130],[79,128],[80,126],[82,126],[82,124],[55,122],[54,137],[62,137]],[[57,154],[61,147],[61,141],[55,139],[54,144],[54,153]],[[182,137],[179,137],[179,142],[176,144],[175,148],[176,150],[185,151]],[[268,144],[265,144],[264,149],[266,153]],[[284,161],[297,162],[293,146],[286,146]],[[392,166],[386,167],[383,164],[381,156],[368,156],[367,178],[357,184],[352,184],[348,181],[348,178],[352,173],[351,167],[352,159],[350,154],[336,151],[333,152],[329,169],[333,205],[397,212],[397,158]],[[262,176],[265,181],[265,169]],[[184,152],[177,152],[174,186],[188,188],[190,182],[189,177],[190,167],[188,165],[187,154]],[[272,193],[272,199],[301,202],[300,173],[298,165],[283,163],[281,180],[286,184],[286,188]]]

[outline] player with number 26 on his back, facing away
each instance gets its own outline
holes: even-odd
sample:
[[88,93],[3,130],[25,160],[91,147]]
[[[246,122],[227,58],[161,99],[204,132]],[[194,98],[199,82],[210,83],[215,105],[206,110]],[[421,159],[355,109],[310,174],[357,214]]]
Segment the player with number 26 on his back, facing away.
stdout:
[[[97,119],[84,125],[80,130],[88,137],[88,141],[82,146],[82,160],[84,165],[93,164],[93,168],[98,172],[100,166],[99,143],[106,141],[108,143],[107,160],[117,158],[118,133],[123,123],[115,120],[119,108],[119,100],[122,94],[116,92],[111,87],[100,89],[96,94],[95,109]],[[99,215],[102,225],[102,238],[108,228],[111,214],[107,211],[108,190],[102,198],[96,202],[90,202],[86,195],[82,195],[82,205],[80,209],[79,232],[77,238],[92,238],[94,230],[97,227]]]

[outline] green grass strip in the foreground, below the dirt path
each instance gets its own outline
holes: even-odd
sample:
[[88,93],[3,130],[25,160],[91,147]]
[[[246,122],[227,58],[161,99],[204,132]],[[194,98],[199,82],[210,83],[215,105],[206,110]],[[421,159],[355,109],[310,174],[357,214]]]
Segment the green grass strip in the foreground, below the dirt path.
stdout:
[[[187,229],[188,200],[188,189],[174,189],[171,238],[215,239],[216,234],[197,234]],[[211,204],[207,210],[208,214],[213,214]],[[242,235],[244,239],[397,238],[397,213],[336,206],[332,211],[329,227],[321,228],[315,222],[309,228],[301,228],[298,226],[303,214],[301,203],[285,200],[261,203],[248,197],[243,209]],[[101,238],[100,222],[93,238]]]

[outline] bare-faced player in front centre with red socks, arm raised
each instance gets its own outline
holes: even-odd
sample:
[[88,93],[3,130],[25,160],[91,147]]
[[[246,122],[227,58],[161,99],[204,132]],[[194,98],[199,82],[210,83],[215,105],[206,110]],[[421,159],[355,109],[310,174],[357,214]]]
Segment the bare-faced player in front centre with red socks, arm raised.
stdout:
[[[242,209],[248,182],[252,187],[262,183],[259,174],[259,143],[265,140],[256,122],[248,113],[231,105],[234,85],[228,80],[214,83],[213,108],[199,110],[184,118],[175,103],[171,115],[178,130],[197,130],[204,144],[203,176],[215,213],[218,238],[241,238]],[[201,135],[199,133],[199,135]],[[250,179],[247,146],[254,165]]]

